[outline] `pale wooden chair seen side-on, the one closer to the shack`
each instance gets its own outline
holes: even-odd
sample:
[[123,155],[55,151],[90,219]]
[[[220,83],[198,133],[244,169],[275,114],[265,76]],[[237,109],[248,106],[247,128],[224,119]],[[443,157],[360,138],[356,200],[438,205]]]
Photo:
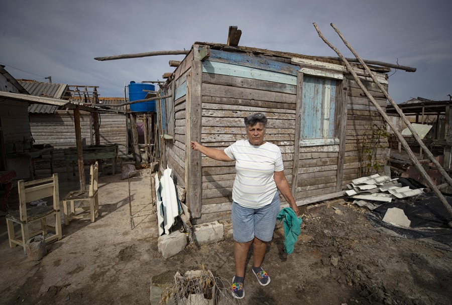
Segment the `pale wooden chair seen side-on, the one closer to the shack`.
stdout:
[[[99,164],[96,162],[90,167],[90,181],[89,185],[84,191],[72,191],[69,192],[66,197],[63,198],[63,211],[64,211],[64,224],[69,225],[69,220],[74,218],[91,218],[91,222],[95,221],[99,212],[99,198],[97,195]],[[81,206],[75,208],[74,202],[88,200],[89,206]],[[68,211],[68,204],[70,203],[71,210]],[[81,213],[77,213],[81,212]],[[89,213],[86,213],[89,212]]]

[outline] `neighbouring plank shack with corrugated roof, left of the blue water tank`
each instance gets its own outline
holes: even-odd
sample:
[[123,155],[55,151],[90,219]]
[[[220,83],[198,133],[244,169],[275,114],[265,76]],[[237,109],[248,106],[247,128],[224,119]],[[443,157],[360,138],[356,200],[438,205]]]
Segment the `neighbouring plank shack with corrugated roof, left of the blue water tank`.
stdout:
[[[124,102],[124,98],[97,97],[95,90],[87,92],[87,89],[89,88],[84,88],[82,86],[43,83],[30,80],[19,80],[19,83],[27,89],[31,95],[35,96],[52,97],[72,102],[83,102],[89,105],[96,103],[112,104]],[[31,132],[35,144],[52,145],[55,147],[53,153],[54,161],[63,162],[64,149],[76,146],[74,114],[72,110],[66,110],[65,107],[58,107],[56,105],[34,104],[30,105],[28,111],[30,114]],[[119,144],[119,157],[126,157],[128,154],[128,132],[127,116],[124,107],[109,111],[102,110],[97,117],[100,135],[99,144]],[[80,128],[83,145],[96,144],[94,138],[95,124],[92,113],[87,111],[80,112]]]

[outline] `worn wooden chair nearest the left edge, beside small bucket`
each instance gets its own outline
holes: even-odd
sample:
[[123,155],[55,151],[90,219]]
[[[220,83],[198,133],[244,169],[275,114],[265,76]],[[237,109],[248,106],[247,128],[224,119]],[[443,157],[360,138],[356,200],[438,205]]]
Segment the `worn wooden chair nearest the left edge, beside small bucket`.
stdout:
[[[53,174],[50,178],[39,179],[29,182],[24,180],[18,181],[19,190],[19,211],[9,211],[9,215],[6,216],[8,227],[8,239],[10,247],[14,248],[17,245],[24,247],[26,242],[39,234],[45,236],[46,243],[60,240],[61,234],[61,214],[60,214],[60,197],[58,193],[58,174]],[[33,202],[38,199],[47,197],[53,197],[52,206],[32,206],[27,208],[27,202]],[[54,216],[55,226],[47,225],[47,217]],[[30,232],[30,224],[41,220],[41,229],[35,232]],[[16,238],[16,232],[14,230],[14,224],[17,223],[21,226],[22,238]],[[48,235],[48,230],[53,231],[54,235]]]

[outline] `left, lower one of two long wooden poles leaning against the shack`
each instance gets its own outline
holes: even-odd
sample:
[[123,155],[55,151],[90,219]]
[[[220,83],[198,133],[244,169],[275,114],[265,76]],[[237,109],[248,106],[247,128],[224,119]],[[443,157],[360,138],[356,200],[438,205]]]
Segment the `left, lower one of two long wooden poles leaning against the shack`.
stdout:
[[[416,156],[414,156],[413,152],[410,149],[410,146],[408,145],[408,143],[405,141],[405,139],[403,138],[402,134],[397,130],[396,126],[394,126],[394,124],[392,123],[391,119],[389,118],[389,116],[386,114],[386,112],[383,110],[383,108],[375,101],[374,97],[372,96],[372,94],[370,94],[370,92],[367,90],[367,88],[364,86],[364,84],[361,82],[360,78],[358,77],[358,75],[355,73],[355,71],[353,70],[353,68],[350,66],[350,63],[344,58],[344,56],[342,55],[342,53],[337,50],[337,48],[335,48],[333,45],[331,45],[325,37],[323,37],[322,33],[320,32],[320,30],[317,27],[317,24],[313,23],[315,30],[318,33],[318,36],[323,40],[323,42],[325,42],[325,44],[327,44],[334,52],[336,52],[336,54],[341,57],[342,61],[346,64],[347,69],[349,70],[349,72],[353,75],[353,77],[355,78],[356,82],[358,83],[358,85],[360,86],[360,88],[363,90],[363,92],[366,94],[366,96],[369,98],[369,100],[374,104],[374,106],[377,108],[378,112],[381,114],[381,116],[386,120],[386,122],[388,123],[388,125],[391,127],[391,129],[394,131],[394,134],[397,136],[398,140],[401,142],[403,148],[406,150],[406,152],[408,153],[408,156],[410,157],[411,161],[413,162],[414,166],[416,167],[416,169],[420,172],[422,178],[425,179],[425,181],[427,182],[428,186],[430,187],[430,189],[436,194],[436,196],[438,196],[439,200],[441,201],[441,203],[444,205],[444,207],[446,208],[446,210],[449,212],[450,215],[452,215],[452,208],[450,207],[449,203],[446,201],[446,199],[444,198],[444,196],[441,194],[441,192],[438,190],[438,188],[436,187],[436,185],[433,183],[433,181],[431,180],[431,178],[427,175],[427,173],[425,172],[424,168],[422,167],[422,165],[419,163],[419,161],[417,160]],[[378,81],[376,82],[378,84]],[[452,226],[452,221],[449,222],[449,226]]]

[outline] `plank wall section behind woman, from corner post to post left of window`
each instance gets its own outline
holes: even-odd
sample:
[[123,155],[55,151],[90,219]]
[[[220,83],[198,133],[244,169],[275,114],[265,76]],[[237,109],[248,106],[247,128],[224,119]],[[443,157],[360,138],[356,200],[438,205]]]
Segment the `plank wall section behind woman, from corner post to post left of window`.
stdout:
[[[241,66],[242,65],[242,66]],[[244,117],[261,112],[269,121],[266,140],[279,145],[286,177],[292,181],[296,67],[264,58],[211,50],[203,62],[201,140],[224,149],[246,139]],[[202,157],[202,215],[194,222],[229,217],[234,162]]]

